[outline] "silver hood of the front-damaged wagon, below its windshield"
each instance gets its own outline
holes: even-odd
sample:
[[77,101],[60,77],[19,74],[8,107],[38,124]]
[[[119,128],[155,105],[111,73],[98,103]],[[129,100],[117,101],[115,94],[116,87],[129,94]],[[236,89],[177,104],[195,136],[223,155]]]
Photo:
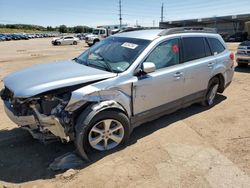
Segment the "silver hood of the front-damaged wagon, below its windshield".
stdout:
[[3,81],[15,97],[27,98],[46,91],[99,81],[116,75],[75,61],[61,61],[34,65],[9,74]]

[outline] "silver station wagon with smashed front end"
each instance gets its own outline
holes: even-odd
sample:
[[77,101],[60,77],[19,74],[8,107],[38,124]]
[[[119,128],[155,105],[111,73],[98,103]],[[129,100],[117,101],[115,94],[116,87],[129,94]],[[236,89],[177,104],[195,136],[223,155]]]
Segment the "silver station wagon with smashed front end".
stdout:
[[42,141],[74,141],[78,153],[117,148],[147,121],[193,103],[212,106],[231,83],[234,55],[210,28],[121,33],[71,61],[4,78],[9,118]]

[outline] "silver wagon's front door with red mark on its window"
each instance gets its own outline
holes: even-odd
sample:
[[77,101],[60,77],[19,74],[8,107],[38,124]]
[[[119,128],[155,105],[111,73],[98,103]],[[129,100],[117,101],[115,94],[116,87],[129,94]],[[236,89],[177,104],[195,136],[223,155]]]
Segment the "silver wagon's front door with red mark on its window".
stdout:
[[156,71],[139,76],[133,83],[134,115],[154,115],[180,105],[185,73],[180,64],[179,39],[159,44],[145,62],[153,62]]

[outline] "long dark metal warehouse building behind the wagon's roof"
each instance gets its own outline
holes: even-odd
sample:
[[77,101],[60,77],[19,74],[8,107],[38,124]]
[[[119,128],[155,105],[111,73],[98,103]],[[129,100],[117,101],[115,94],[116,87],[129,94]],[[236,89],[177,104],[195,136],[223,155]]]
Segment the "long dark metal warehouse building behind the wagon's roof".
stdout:
[[250,35],[249,25],[250,14],[160,22],[160,28],[164,29],[185,26],[212,27],[216,28],[218,33],[227,33],[228,35],[233,35],[239,32],[248,32]]

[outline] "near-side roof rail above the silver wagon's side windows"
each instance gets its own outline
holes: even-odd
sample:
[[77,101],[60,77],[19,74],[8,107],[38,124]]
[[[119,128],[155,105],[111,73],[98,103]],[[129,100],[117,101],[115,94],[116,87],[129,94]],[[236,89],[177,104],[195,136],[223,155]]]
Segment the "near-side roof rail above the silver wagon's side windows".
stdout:
[[165,36],[176,33],[217,33],[215,28],[209,27],[174,27],[165,29],[159,33],[159,36]]

